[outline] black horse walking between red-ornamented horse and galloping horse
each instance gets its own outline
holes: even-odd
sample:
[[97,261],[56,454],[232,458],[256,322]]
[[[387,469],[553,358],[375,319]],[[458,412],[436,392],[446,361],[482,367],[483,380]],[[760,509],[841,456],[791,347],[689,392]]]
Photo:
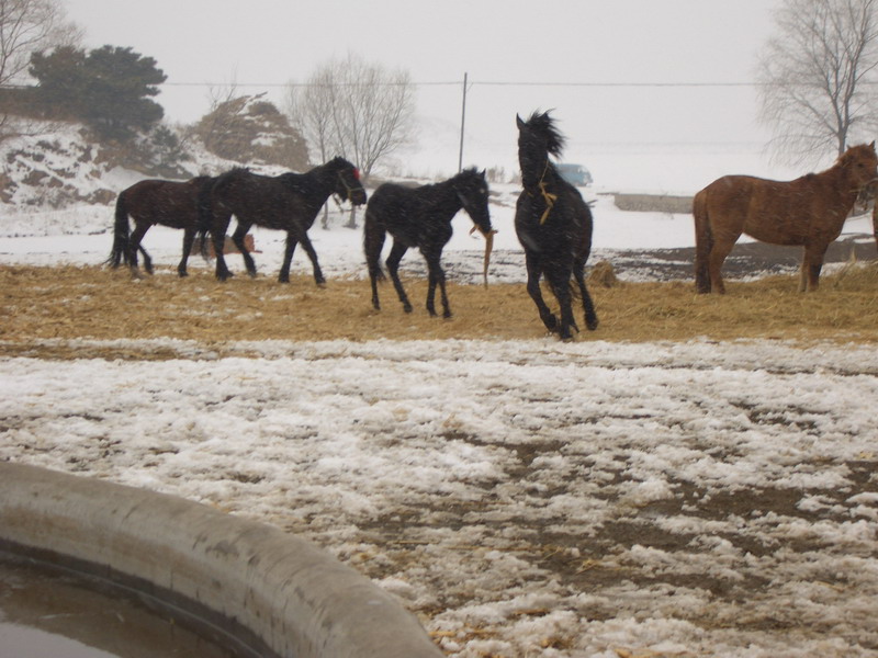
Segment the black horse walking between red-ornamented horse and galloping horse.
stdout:
[[442,249],[453,232],[451,219],[458,211],[464,208],[475,228],[491,240],[494,230],[491,228],[487,200],[485,172],[475,169],[466,169],[447,181],[432,185],[406,188],[395,183],[384,183],[375,190],[365,206],[363,236],[365,262],[372,282],[372,306],[381,308],[378,299],[378,281],[384,279],[384,274],[379,261],[385,234],[389,232],[393,237],[393,247],[386,260],[387,271],[403,303],[403,309],[412,313],[412,304],[399,281],[399,261],[410,247],[417,247],[427,260],[429,272],[427,310],[431,316],[436,316],[435,298],[438,284],[442,297],[442,316],[450,318],[446,275],[440,261]]

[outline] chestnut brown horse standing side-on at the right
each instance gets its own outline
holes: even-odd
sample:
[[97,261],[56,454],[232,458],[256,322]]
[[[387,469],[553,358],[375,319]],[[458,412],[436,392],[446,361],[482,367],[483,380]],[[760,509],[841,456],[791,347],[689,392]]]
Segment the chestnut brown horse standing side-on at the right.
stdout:
[[804,247],[799,290],[815,291],[826,248],[842,232],[860,190],[876,178],[873,141],[848,148],[830,169],[793,181],[748,175],[713,181],[693,201],[697,292],[725,292],[720,269],[742,232]]

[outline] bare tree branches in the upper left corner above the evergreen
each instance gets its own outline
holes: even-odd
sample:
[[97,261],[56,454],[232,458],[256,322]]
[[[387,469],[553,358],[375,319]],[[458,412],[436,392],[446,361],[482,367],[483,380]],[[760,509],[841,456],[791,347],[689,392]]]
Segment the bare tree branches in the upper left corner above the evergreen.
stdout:
[[81,37],[58,0],[0,0],[0,141],[18,134],[11,115],[22,90],[13,86],[26,82],[31,55],[75,46]]

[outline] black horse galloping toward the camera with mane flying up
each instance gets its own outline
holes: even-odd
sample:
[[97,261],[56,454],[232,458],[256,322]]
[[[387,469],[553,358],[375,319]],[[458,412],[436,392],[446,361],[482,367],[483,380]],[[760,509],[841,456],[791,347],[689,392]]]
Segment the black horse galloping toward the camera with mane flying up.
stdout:
[[[585,287],[585,262],[592,251],[592,212],[579,191],[561,178],[549,156],[561,155],[564,138],[548,112],[534,112],[518,124],[518,162],[525,190],[518,196],[515,230],[528,270],[528,293],[549,331],[563,340],[578,331],[571,308],[571,276],[578,284],[585,309],[585,326],[597,328],[597,315]],[[545,280],[561,306],[561,319],[549,310],[540,292]]]

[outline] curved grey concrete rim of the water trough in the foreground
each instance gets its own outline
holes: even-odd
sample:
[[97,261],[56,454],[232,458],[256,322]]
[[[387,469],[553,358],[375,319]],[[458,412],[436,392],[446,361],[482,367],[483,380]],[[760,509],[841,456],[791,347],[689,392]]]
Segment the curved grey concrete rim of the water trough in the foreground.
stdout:
[[0,541],[149,583],[277,656],[442,656],[391,594],[311,542],[173,496],[0,463]]

